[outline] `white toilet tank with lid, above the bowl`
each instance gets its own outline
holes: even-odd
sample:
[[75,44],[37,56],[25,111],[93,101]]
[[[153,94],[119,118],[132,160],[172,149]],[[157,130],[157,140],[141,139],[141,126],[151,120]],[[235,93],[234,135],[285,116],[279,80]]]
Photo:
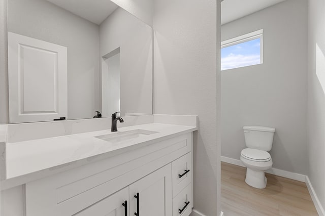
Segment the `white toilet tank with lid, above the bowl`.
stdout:
[[244,126],[245,143],[248,148],[271,151],[275,128]]

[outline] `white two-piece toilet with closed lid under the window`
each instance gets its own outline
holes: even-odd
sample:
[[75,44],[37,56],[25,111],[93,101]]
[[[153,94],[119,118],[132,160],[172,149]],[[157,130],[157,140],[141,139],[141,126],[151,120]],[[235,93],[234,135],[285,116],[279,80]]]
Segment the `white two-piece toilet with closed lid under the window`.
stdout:
[[265,188],[267,179],[264,171],[273,164],[268,151],[272,149],[275,128],[244,126],[243,129],[248,147],[240,153],[240,160],[247,167],[245,182],[254,188]]

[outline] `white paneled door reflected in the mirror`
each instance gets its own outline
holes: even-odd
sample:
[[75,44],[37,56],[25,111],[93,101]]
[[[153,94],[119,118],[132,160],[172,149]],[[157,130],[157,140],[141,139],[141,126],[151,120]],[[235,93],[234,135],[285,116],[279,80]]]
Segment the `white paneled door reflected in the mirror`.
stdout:
[[68,119],[67,48],[8,32],[10,123]]

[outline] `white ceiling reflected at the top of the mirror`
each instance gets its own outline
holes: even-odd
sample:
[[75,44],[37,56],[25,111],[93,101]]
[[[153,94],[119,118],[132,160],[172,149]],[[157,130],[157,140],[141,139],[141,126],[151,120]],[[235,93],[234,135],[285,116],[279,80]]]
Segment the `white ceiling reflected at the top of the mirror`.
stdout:
[[118,7],[108,0],[47,0],[90,22],[100,25]]

